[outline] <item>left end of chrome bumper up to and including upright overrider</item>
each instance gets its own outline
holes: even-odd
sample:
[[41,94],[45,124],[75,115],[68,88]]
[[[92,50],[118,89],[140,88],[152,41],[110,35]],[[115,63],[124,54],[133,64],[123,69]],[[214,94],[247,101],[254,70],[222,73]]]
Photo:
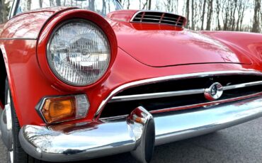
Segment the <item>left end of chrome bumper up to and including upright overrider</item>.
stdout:
[[[150,160],[154,136],[153,116],[139,107],[128,118],[110,123],[99,121],[50,127],[25,125],[19,139],[25,152],[51,162],[91,159],[132,150],[139,151],[139,154],[134,154],[137,159]],[[148,141],[152,145],[148,146]]]

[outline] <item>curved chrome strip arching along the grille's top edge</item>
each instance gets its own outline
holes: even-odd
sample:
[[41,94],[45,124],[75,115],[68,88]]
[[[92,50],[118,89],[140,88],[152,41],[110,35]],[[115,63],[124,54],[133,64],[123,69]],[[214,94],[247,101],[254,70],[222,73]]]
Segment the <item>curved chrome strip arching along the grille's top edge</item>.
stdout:
[[217,72],[197,72],[192,74],[178,74],[178,75],[172,75],[172,76],[166,76],[166,77],[156,77],[151,79],[143,79],[139,81],[132,81],[127,84],[123,84],[122,86],[118,86],[118,88],[114,89],[106,99],[104,99],[100,106],[98,107],[98,110],[96,111],[95,118],[99,118],[101,111],[106,106],[106,103],[110,101],[110,99],[113,98],[116,94],[118,94],[120,91],[124,91],[125,89],[129,89],[134,86],[141,86],[144,84],[152,84],[160,81],[169,81],[169,80],[177,80],[177,79],[190,79],[195,77],[214,77],[217,75],[233,75],[233,74],[250,74],[250,75],[258,75],[262,76],[262,72],[256,72],[256,71],[217,71]]

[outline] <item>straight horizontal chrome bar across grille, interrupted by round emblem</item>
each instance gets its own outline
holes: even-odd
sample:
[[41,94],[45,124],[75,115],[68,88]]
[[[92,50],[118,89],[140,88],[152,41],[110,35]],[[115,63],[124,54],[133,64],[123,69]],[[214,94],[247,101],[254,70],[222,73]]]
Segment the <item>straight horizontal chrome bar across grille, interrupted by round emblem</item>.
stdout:
[[[243,83],[243,84],[235,84],[232,86],[223,86],[223,90],[227,91],[231,89],[239,89],[247,86],[257,86],[261,84],[262,81],[254,81],[254,82]],[[166,92],[159,92],[159,93],[152,93],[152,94],[114,96],[110,101],[108,101],[108,103],[135,101],[135,100],[143,100],[143,99],[157,99],[157,98],[172,97],[172,96],[185,96],[185,95],[192,95],[192,94],[203,94],[204,92],[205,89],[190,89],[190,90],[183,90],[183,91],[166,91]]]

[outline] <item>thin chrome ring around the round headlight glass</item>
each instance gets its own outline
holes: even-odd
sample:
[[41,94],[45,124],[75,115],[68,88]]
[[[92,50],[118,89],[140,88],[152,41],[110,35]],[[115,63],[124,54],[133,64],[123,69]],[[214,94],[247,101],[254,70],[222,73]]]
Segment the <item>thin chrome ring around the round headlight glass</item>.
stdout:
[[[67,26],[69,23],[86,23],[87,25],[89,24],[89,25],[93,26],[94,28],[96,28],[96,30],[98,30],[101,33],[103,38],[106,40],[106,44],[108,45],[108,61],[107,61],[107,64],[103,68],[102,73],[99,74],[96,77],[96,79],[94,79],[91,82],[86,82],[84,84],[76,84],[76,83],[74,83],[72,81],[64,79],[64,77],[62,77],[62,75],[57,72],[57,70],[55,69],[54,65],[51,63],[52,58],[50,57],[50,52],[51,52],[50,51],[50,46],[52,44],[52,40],[55,37],[55,33],[57,33],[57,31],[59,31],[62,27]],[[95,84],[97,81],[99,81],[106,74],[106,72],[108,71],[108,67],[110,66],[110,62],[111,62],[110,42],[109,42],[109,39],[108,39],[106,33],[98,25],[96,25],[96,23],[93,23],[92,21],[86,20],[84,18],[73,18],[71,20],[67,20],[67,21],[64,21],[62,23],[59,23],[59,25],[57,27],[55,27],[54,30],[52,30],[50,38],[47,41],[46,58],[47,58],[48,66],[50,67],[52,73],[55,74],[55,77],[57,77],[57,79],[59,79],[60,81],[64,82],[65,84],[68,84],[69,86],[76,86],[76,87],[89,86],[89,85]]]

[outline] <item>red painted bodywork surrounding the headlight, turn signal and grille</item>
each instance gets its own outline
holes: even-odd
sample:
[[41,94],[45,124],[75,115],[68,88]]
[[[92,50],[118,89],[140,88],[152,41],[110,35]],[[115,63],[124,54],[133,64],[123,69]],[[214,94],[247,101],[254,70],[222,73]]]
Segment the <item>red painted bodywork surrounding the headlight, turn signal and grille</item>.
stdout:
[[[39,14],[42,15],[42,13],[38,14],[38,12],[24,13],[21,15],[23,19],[25,19],[24,21],[22,21],[20,16],[16,16],[4,25],[5,28],[0,33],[1,38],[26,38],[28,35],[30,35],[30,37],[38,37],[40,31],[42,31],[38,41],[1,40],[0,38],[0,45],[4,45],[4,49],[6,50],[4,58],[8,70],[8,79],[11,86],[14,106],[21,125],[45,125],[35,111],[36,104],[44,96],[86,94],[91,103],[88,116],[83,120],[76,120],[76,122],[91,121],[101,101],[106,99],[113,89],[131,81],[195,72],[229,70],[254,70],[262,72],[261,52],[258,51],[261,50],[262,47],[261,34],[206,33],[215,39],[212,40],[208,38],[210,41],[206,41],[207,36],[187,30],[181,31],[178,28],[159,25],[137,26],[127,22],[119,23],[119,21],[108,21],[115,30],[119,46],[116,47],[116,40],[113,40],[113,30],[110,30],[108,23],[95,13],[78,9],[69,11],[61,11],[61,9],[58,9],[57,11],[52,10],[46,11],[45,13],[46,14],[43,14],[45,16],[39,16]],[[103,79],[92,86],[82,88],[68,86],[57,80],[46,64],[44,47],[47,38],[52,32],[52,28],[54,28],[58,22],[72,18],[72,16],[76,18],[80,16],[81,18],[96,21],[103,30],[106,30],[108,38],[110,38],[113,45],[115,61],[111,62],[111,68],[108,69]],[[30,21],[28,18],[36,21],[34,26],[29,26],[29,24],[25,26],[25,22]],[[21,21],[18,21],[14,25],[16,20]],[[46,23],[47,20],[49,20],[48,22],[50,23]],[[45,28],[42,28],[44,25],[46,25]],[[146,28],[148,30],[145,30]],[[161,30],[161,28],[169,28],[169,30]],[[147,36],[148,33],[150,37]],[[197,37],[194,38],[192,35],[197,35]],[[244,36],[245,40],[242,40]],[[192,43],[185,42],[183,45],[183,43],[180,43],[181,39],[183,41],[190,40]],[[140,45],[142,40],[145,41],[144,47]],[[164,48],[166,53],[161,53],[161,55],[157,54],[156,52],[163,51],[163,48],[160,50],[159,45],[164,46],[163,43],[168,44],[169,41],[170,43],[181,46],[173,45],[173,47],[170,48],[166,47]],[[217,44],[213,44],[214,42],[217,43],[217,41],[220,41],[222,45],[217,46]],[[203,43],[205,47],[198,45],[198,43]],[[186,44],[188,44],[188,48],[186,48]],[[177,49],[175,50],[174,47],[177,47]],[[122,49],[125,49],[125,51],[130,54],[127,54],[127,52]],[[189,49],[194,51],[190,51]],[[171,50],[173,50],[173,52],[171,52]],[[205,52],[205,57],[203,57],[204,55],[200,54],[198,50]],[[215,52],[215,50],[222,52],[220,57],[218,57],[218,52]],[[220,62],[223,58],[222,56],[226,55],[228,50],[230,53],[227,57],[228,62],[248,64],[230,64],[225,61],[221,63],[208,63],[210,60]],[[117,52],[117,54],[114,54],[114,52]],[[188,52],[190,55],[188,55]],[[209,56],[207,52],[209,52]],[[195,54],[198,54],[198,57]],[[152,67],[153,65],[163,66],[185,62],[205,62],[205,64]],[[152,66],[147,66],[146,64],[152,64]]]

